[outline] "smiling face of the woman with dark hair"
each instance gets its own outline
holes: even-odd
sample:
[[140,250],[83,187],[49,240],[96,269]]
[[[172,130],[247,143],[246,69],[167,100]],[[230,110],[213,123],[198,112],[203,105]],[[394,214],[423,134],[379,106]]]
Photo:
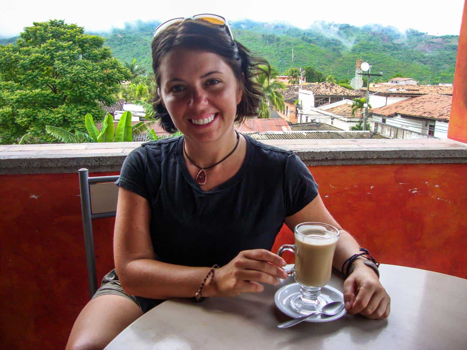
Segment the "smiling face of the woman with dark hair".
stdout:
[[186,138],[214,142],[233,129],[241,86],[220,56],[174,49],[163,57],[160,72],[162,103]]

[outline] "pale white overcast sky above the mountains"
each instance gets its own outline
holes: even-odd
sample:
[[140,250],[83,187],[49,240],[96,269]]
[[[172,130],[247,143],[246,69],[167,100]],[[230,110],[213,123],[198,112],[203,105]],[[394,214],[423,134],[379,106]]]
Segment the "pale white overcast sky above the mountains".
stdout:
[[[441,6],[433,7],[431,3]],[[50,19],[76,23],[87,31],[107,31],[123,28],[125,22],[165,21],[203,13],[220,14],[229,21],[287,21],[299,28],[308,28],[314,21],[354,26],[376,23],[391,25],[402,32],[413,28],[431,35],[459,35],[463,6],[464,0],[5,1],[0,7],[0,37],[18,35],[33,22]]]

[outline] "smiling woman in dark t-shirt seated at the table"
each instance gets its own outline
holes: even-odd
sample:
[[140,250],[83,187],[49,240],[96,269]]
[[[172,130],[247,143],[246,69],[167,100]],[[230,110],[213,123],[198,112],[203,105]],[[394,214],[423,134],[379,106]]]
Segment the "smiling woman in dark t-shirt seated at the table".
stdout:
[[[165,130],[184,136],[149,142],[126,158],[114,231],[118,276],[108,274],[78,316],[69,349],[104,347],[164,299],[278,284],[285,261],[269,250],[283,222],[291,230],[305,221],[341,229],[295,154],[235,131],[234,122],[257,110],[253,78],[266,62],[233,40],[222,17],[199,17],[156,30],[155,109]],[[333,266],[355,253],[359,245],[341,230]],[[364,261],[347,262],[347,312],[385,318],[389,295]]]

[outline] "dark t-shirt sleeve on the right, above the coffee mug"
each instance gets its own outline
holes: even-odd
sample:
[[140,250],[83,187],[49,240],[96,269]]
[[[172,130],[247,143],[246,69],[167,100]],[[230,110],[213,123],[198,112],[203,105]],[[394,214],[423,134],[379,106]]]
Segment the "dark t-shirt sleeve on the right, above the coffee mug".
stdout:
[[296,154],[287,158],[284,191],[287,217],[302,210],[318,196],[318,184]]

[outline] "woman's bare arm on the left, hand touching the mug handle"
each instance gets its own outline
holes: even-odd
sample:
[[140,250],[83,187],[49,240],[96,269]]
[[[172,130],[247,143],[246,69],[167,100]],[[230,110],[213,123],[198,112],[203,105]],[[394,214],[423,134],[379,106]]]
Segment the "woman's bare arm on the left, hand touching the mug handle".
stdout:
[[[127,294],[153,299],[192,297],[209,267],[190,267],[155,260],[149,233],[148,201],[127,189],[119,189],[113,240],[113,256],[122,288]],[[261,292],[258,283],[276,284],[287,274],[285,261],[264,249],[240,252],[206,281],[203,296],[234,296]]]

